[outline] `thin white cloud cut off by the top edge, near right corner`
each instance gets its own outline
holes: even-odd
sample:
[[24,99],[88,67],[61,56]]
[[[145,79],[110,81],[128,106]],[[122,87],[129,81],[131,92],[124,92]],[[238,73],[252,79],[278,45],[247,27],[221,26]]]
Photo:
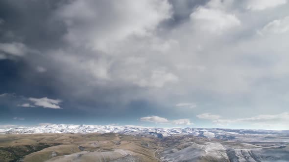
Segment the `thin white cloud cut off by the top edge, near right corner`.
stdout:
[[287,0],[246,0],[246,9],[260,11],[267,8],[274,8],[286,3]]

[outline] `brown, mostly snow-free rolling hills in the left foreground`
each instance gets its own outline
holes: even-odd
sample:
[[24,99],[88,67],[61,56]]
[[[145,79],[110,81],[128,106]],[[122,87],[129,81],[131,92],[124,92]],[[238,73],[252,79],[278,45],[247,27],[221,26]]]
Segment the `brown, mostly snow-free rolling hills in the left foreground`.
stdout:
[[0,135],[0,162],[157,162],[157,141],[115,133]]

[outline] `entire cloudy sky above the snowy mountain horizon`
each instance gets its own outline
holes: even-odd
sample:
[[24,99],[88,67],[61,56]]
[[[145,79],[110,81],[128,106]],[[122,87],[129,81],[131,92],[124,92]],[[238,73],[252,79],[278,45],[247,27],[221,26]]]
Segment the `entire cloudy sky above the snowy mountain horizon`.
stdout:
[[0,127],[289,129],[288,0],[1,0]]

